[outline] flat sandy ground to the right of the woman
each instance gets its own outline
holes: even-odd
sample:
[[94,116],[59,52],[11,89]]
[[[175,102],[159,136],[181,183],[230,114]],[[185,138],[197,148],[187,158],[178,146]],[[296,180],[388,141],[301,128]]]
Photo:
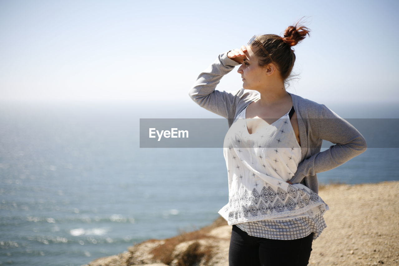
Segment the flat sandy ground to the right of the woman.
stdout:
[[310,265],[399,265],[399,182],[328,185],[330,210],[313,242]]

